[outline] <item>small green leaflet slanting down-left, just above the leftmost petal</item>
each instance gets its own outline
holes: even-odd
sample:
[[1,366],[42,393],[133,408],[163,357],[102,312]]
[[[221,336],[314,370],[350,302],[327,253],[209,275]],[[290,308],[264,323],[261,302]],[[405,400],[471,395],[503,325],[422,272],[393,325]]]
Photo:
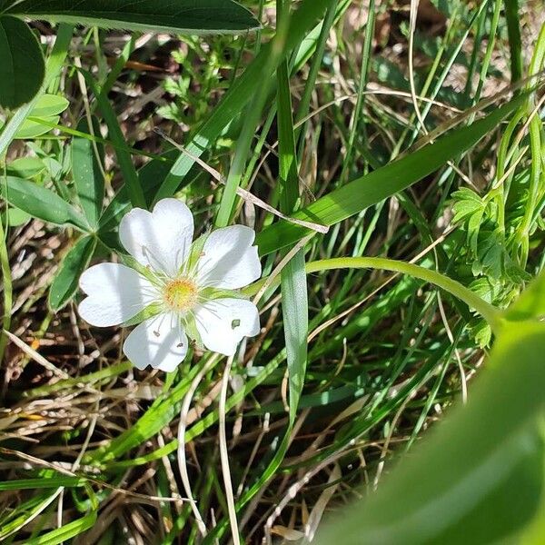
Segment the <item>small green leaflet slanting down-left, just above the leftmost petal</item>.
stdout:
[[49,290],[49,306],[59,311],[72,300],[77,292],[79,277],[87,268],[96,247],[96,239],[84,236],[66,254]]

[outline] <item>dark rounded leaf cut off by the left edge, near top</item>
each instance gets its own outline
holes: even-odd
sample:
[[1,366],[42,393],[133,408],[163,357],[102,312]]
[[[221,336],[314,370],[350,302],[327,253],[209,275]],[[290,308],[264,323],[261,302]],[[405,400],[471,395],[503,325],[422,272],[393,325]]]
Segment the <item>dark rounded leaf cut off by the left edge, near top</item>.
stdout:
[[28,25],[15,17],[0,17],[0,59],[0,105],[14,109],[30,102],[44,81],[44,54]]

